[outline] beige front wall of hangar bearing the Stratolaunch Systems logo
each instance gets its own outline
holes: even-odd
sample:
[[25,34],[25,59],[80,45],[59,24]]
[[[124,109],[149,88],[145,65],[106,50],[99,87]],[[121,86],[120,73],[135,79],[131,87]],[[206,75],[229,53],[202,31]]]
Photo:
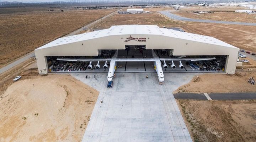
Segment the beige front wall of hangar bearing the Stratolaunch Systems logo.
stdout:
[[[145,38],[145,42],[128,40],[127,38]],[[55,45],[55,46],[54,46]],[[52,47],[35,50],[38,72],[47,73],[45,56],[97,56],[98,49],[125,49],[125,45],[146,45],[146,49],[174,49],[173,55],[228,55],[225,72],[234,73],[238,48],[225,47],[217,44],[197,42],[196,40],[182,39],[154,34],[124,34],[108,35],[67,44],[54,44]]]

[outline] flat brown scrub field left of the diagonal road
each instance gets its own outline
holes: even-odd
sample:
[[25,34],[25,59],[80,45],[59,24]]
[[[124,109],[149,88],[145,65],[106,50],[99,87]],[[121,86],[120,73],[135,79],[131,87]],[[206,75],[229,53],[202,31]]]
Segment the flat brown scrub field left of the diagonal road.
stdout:
[[[32,10],[31,10],[32,9]],[[1,8],[0,67],[117,9]],[[54,11],[47,11],[47,10]]]

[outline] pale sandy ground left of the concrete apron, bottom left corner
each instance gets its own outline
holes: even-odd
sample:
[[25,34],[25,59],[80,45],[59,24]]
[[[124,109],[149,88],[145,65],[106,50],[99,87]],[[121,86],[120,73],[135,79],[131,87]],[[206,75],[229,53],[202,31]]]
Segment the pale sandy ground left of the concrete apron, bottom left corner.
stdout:
[[0,141],[81,141],[98,92],[70,75],[36,72],[0,96]]

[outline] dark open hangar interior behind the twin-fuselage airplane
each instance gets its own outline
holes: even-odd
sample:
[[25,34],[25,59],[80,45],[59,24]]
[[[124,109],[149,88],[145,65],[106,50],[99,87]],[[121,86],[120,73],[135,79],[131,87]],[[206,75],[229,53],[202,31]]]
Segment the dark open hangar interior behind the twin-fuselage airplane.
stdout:
[[[210,55],[210,56],[173,56],[173,49],[155,49],[156,55],[159,58],[216,58],[215,60],[204,60],[204,61],[181,61],[184,65],[183,69],[177,67],[172,69],[171,61],[166,61],[168,68],[165,69],[162,66],[163,71],[168,72],[215,72],[224,71],[226,64],[226,55]],[[87,71],[108,71],[109,68],[103,69],[105,62],[100,62],[100,69],[96,69],[97,61],[92,61],[92,69],[88,70],[87,66],[90,61],[59,61],[58,58],[80,58],[80,59],[107,59],[112,58],[116,50],[98,50],[98,56],[47,56],[47,62],[49,67],[49,72],[87,72]],[[118,50],[118,58],[152,58],[151,49],[146,49],[145,45],[126,45],[124,50]],[[164,62],[161,61],[162,65]],[[179,61],[174,61],[176,66],[180,65]],[[107,62],[110,65],[110,61]],[[153,62],[117,62],[116,71],[154,71]]]

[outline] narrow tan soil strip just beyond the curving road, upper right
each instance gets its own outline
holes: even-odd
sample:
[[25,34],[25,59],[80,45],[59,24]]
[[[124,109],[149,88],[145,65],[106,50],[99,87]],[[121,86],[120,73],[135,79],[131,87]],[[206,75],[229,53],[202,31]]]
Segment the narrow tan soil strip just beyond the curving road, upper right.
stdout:
[[238,13],[238,12],[214,12],[214,13],[193,13],[193,12],[174,12],[176,15],[193,19],[248,22],[256,23],[256,14]]

